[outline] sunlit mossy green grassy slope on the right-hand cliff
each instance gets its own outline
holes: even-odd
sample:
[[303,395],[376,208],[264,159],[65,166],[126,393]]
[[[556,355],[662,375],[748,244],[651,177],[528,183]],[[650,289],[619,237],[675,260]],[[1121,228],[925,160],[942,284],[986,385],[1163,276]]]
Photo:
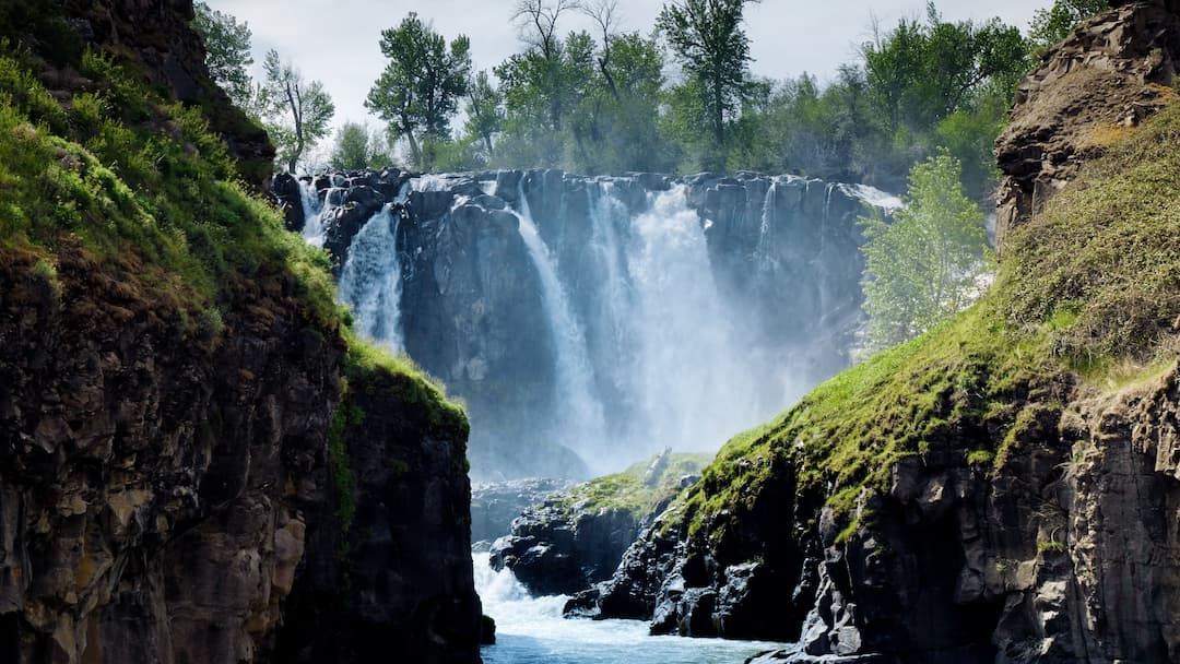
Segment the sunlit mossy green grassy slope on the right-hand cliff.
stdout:
[[[729,441],[683,505],[691,538],[717,544],[760,487],[850,514],[909,455],[991,472],[1056,428],[1075,387],[1119,387],[1171,366],[1180,346],[1180,105],[1115,140],[1005,245],[995,287],[951,322],[821,384]],[[846,533],[856,527],[850,519]]]

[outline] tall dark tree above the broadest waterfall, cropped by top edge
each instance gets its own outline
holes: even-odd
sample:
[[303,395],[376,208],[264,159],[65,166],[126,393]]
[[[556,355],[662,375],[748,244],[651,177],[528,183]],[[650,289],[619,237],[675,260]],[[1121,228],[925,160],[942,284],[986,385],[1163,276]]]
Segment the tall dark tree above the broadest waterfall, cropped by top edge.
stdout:
[[726,120],[739,107],[746,90],[750,61],[749,38],[741,28],[746,2],[758,0],[674,0],[656,19],[681,60],[695,79],[714,143],[725,145]]

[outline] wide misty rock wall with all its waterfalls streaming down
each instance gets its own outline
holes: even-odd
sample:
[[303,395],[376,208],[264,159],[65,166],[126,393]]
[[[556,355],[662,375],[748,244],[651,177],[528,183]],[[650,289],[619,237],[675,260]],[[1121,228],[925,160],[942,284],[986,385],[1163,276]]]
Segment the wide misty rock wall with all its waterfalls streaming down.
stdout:
[[[713,449],[784,408],[847,364],[860,320],[857,217],[898,204],[752,173],[387,169],[275,190],[293,226],[322,229],[342,283],[388,271],[396,254],[400,301],[386,298],[380,315],[396,307],[399,329],[378,330],[376,287],[343,296],[362,329],[466,400],[473,473],[487,479]],[[308,191],[321,203],[306,224]],[[386,204],[401,215],[396,237],[373,252],[368,225],[386,224],[375,216]]]

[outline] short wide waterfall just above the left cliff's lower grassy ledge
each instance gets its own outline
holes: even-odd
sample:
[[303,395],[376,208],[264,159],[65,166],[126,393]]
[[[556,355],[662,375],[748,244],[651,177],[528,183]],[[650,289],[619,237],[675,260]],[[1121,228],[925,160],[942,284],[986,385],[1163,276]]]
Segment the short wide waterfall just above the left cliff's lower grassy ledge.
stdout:
[[353,308],[356,329],[404,350],[401,263],[398,255],[400,210],[385,205],[361,228],[340,274],[340,298]]

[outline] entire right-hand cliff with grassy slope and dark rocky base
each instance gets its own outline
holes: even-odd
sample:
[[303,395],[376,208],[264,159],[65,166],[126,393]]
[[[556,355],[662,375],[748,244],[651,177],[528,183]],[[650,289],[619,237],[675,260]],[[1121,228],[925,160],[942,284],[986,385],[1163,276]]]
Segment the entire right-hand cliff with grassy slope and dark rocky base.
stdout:
[[799,642],[766,660],[1180,660],[1175,17],[1022,86],[977,305],[727,443],[583,604]]

